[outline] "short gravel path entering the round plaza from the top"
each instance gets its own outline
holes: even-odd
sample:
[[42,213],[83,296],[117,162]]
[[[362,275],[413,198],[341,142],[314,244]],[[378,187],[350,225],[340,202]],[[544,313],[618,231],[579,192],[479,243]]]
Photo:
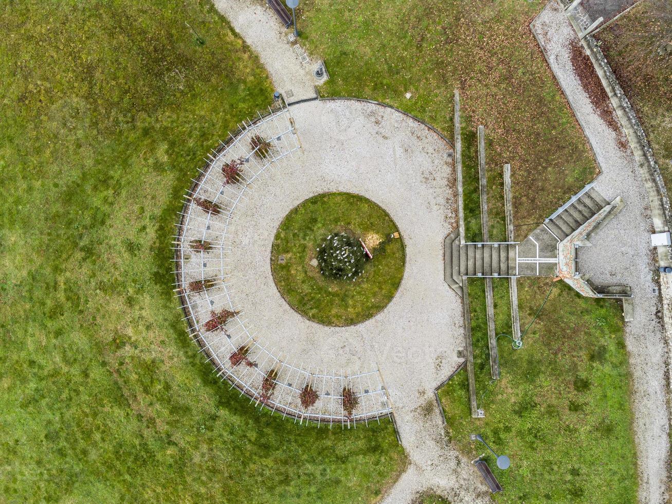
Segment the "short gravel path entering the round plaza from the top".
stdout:
[[[276,13],[265,2],[249,0],[213,0],[214,6],[228,18],[245,42],[259,54],[271,81],[288,102],[315,96],[312,77],[314,62],[300,62]],[[284,3],[284,1],[282,2]]]

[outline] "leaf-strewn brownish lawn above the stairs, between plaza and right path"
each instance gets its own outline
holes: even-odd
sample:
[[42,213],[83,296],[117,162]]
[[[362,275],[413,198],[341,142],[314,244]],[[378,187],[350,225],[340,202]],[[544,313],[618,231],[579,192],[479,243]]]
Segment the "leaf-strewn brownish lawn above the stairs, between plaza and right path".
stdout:
[[[545,4],[305,0],[298,24],[302,43],[329,69],[323,95],[390,103],[452,138],[458,88],[463,128],[486,128],[489,192],[498,195],[491,199],[501,198],[501,169],[511,163],[514,216],[522,224],[543,220],[597,173],[528,28]],[[493,218],[499,208],[491,207]]]

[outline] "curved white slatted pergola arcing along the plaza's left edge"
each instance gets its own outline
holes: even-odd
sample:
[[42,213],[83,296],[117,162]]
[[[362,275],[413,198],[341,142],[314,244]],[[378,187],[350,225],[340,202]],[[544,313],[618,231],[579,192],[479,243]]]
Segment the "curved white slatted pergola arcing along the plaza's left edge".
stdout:
[[[259,155],[257,149],[246,148],[245,140],[259,134],[269,140],[272,147],[265,157]],[[235,227],[237,204],[245,198],[255,181],[263,177],[265,171],[277,167],[278,161],[293,155],[300,148],[294,130],[289,109],[280,103],[278,110],[270,110],[254,122],[249,121],[239,126],[235,135],[230,134],[226,143],[220,142],[214,156],[208,154],[206,166],[194,180],[192,187],[185,196],[181,218],[177,224],[177,247],[175,247],[175,271],[177,292],[185,320],[190,328],[190,336],[196,341],[201,351],[212,362],[222,380],[226,378],[235,386],[241,395],[245,394],[255,405],[267,407],[272,412],[278,411],[283,416],[289,415],[300,421],[314,421],[319,425],[328,423],[349,424],[351,421],[380,419],[392,414],[388,394],[382,384],[378,370],[345,374],[303,368],[302,364],[291,364],[274,355],[267,345],[249,333],[243,313],[233,303],[226,287],[227,272],[224,270],[226,251],[230,247],[228,238],[230,230]],[[226,184],[218,175],[222,163],[230,159],[242,159],[242,181]],[[216,210],[204,210],[199,202],[205,200],[219,206]],[[192,241],[208,241],[211,249],[195,251],[190,249]],[[220,266],[208,267],[208,257],[219,255]],[[192,255],[196,256],[194,260]],[[196,267],[191,267],[198,261]],[[212,273],[210,273],[212,271]],[[194,281],[214,280],[215,286],[204,288],[199,292],[190,292],[188,285]],[[210,290],[223,287],[223,294],[211,295]],[[225,325],[215,329],[207,329],[207,322],[218,310],[234,311],[235,315]],[[208,312],[211,312],[208,315]],[[208,343],[204,334],[218,331],[221,335],[212,343]],[[244,358],[233,356],[241,349]],[[317,392],[317,401],[309,407],[303,407],[300,395],[305,386]],[[351,414],[343,411],[344,388],[349,388],[358,397],[358,405]],[[270,389],[270,390],[269,390]]]

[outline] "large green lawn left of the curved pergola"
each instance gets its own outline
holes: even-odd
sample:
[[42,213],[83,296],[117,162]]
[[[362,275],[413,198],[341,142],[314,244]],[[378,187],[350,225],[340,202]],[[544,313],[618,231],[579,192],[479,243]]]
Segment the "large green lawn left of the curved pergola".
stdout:
[[392,425],[253,409],[173,297],[181,195],[271,101],[257,58],[207,1],[0,9],[0,500],[375,499],[405,464]]

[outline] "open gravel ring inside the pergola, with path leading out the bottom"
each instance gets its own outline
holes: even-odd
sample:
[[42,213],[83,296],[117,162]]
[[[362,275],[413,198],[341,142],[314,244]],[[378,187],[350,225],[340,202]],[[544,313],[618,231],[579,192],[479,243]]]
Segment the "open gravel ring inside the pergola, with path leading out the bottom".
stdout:
[[[428,487],[474,499],[477,474],[448,446],[432,390],[460,363],[462,302],[444,283],[443,241],[455,227],[452,149],[423,124],[360,101],[291,108],[302,151],[259,181],[241,203],[230,253],[235,304],[256,337],[318,370],[380,367],[411,460],[388,495],[408,502]],[[401,286],[382,312],[351,327],[304,319],[280,296],[269,258],[286,214],[322,192],[366,196],[390,213],[406,246]]]

